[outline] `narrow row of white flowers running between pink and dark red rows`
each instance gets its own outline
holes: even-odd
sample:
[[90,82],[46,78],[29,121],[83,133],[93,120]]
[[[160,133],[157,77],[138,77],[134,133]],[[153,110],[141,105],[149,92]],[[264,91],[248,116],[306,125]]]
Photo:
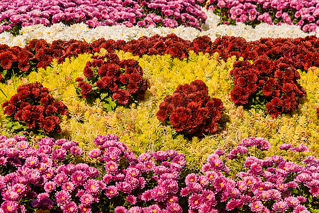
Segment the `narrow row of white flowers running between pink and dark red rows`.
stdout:
[[[202,9],[206,11],[206,9]],[[194,40],[198,36],[208,35],[211,40],[215,40],[218,36],[233,35],[245,38],[247,41],[258,40],[259,38],[298,38],[307,35],[319,35],[319,28],[316,32],[305,33],[298,26],[290,26],[282,24],[281,26],[271,26],[267,23],[261,23],[255,28],[245,25],[245,23],[237,23],[235,26],[219,25],[220,17],[216,16],[212,11],[206,11],[208,16],[206,23],[201,27],[203,31],[196,28],[179,26],[178,28],[140,28],[134,26],[128,28],[126,26],[99,26],[97,28],[89,28],[84,23],[77,23],[72,26],[65,26],[63,23],[55,23],[50,27],[43,25],[27,26],[21,30],[21,35],[13,36],[11,33],[0,33],[0,43],[9,46],[24,47],[32,39],[43,38],[48,43],[53,40],[84,40],[88,43],[99,38],[113,40],[132,40],[138,39],[143,35],[147,37],[152,35],[166,36],[174,33],[185,40]]]

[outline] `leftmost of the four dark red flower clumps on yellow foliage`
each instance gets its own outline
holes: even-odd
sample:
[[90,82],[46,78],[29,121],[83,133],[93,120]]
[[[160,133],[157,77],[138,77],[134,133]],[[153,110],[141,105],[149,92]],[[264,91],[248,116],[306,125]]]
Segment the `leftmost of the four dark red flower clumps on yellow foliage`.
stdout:
[[55,100],[40,82],[23,84],[17,94],[1,105],[11,121],[26,124],[29,129],[43,129],[45,133],[60,133],[58,116],[67,115],[67,107]]

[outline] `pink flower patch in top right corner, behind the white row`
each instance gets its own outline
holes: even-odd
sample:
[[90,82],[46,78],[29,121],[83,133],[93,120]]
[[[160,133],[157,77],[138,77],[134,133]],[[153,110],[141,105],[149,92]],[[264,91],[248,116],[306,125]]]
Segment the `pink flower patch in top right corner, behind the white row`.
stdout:
[[211,0],[211,9],[223,23],[243,22],[255,26],[268,24],[293,24],[303,31],[315,31],[319,26],[317,1],[229,1]]

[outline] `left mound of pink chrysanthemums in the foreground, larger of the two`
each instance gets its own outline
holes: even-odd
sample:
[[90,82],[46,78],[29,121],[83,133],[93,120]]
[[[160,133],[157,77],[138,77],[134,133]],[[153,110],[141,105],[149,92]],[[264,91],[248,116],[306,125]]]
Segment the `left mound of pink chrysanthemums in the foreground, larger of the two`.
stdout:
[[112,134],[97,136],[94,143],[98,148],[88,155],[99,159],[101,168],[70,163],[84,155],[74,141],[43,138],[35,149],[26,137],[1,136],[0,190],[6,192],[1,193],[0,209],[181,212],[179,173],[186,165],[184,154],[169,150],[136,157]]

